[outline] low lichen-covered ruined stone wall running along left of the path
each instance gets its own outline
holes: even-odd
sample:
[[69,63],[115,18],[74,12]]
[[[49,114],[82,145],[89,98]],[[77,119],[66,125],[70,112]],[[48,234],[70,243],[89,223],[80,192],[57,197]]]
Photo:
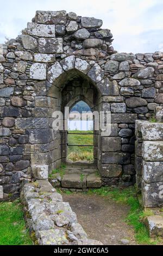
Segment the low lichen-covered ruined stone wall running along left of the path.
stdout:
[[87,239],[76,214],[47,180],[26,183],[21,192],[24,216],[35,245],[102,245]]

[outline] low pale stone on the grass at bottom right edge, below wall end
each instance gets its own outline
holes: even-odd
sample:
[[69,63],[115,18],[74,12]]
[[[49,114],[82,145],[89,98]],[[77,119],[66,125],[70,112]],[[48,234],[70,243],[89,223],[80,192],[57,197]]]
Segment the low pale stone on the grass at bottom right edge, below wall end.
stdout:
[[147,227],[151,237],[163,237],[163,217],[159,215],[147,217]]

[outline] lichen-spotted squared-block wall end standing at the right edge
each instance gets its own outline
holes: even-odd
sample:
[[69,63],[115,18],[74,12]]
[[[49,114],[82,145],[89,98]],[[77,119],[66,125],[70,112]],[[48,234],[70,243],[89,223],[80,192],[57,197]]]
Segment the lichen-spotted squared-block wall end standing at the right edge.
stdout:
[[[162,108],[161,108],[162,109]],[[136,182],[143,205],[163,205],[163,123],[136,121]]]

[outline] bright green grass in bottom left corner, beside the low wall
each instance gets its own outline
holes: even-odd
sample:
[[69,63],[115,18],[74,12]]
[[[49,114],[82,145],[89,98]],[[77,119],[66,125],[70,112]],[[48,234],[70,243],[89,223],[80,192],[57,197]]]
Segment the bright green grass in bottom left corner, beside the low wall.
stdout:
[[0,245],[32,245],[21,203],[0,203]]

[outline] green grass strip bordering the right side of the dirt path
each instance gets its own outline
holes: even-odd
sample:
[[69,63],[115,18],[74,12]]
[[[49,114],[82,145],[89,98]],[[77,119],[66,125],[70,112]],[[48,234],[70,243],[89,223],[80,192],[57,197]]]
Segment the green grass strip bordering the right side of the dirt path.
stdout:
[[147,216],[153,215],[152,210],[143,210],[139,204],[134,187],[129,188],[109,188],[102,187],[90,190],[88,194],[97,194],[98,196],[108,197],[117,203],[127,204],[130,206],[130,212],[126,218],[126,222],[134,227],[136,242],[140,245],[156,245],[160,239],[151,239],[148,230],[144,224]]

